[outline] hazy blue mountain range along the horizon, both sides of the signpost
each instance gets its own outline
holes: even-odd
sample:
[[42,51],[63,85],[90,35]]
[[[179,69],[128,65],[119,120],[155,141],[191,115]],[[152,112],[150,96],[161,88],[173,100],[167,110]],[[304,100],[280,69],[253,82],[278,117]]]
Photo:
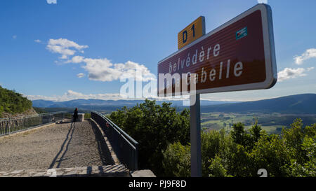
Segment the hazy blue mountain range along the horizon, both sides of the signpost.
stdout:
[[[114,111],[123,106],[132,107],[143,103],[143,100],[100,100],[100,99],[74,99],[70,101],[34,100],[33,106],[39,108],[80,108],[84,110]],[[164,101],[156,101],[162,104]],[[184,108],[183,101],[171,102],[172,106]],[[316,94],[296,94],[274,99],[259,101],[208,101],[201,100],[201,112],[261,112],[261,113],[308,113],[316,114]]]

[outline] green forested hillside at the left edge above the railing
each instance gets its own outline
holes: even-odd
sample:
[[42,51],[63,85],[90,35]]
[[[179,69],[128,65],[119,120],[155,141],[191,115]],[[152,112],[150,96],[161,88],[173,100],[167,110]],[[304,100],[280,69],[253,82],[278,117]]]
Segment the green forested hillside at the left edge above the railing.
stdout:
[[14,90],[7,90],[0,86],[0,118],[4,113],[22,113],[32,108],[32,101]]

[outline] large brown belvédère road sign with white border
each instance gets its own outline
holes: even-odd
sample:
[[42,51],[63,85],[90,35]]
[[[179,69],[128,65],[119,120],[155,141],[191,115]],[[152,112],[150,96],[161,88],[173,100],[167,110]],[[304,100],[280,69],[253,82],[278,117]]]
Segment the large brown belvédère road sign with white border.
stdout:
[[[190,82],[190,73],[196,73],[198,94],[272,87],[277,82],[277,66],[270,6],[258,4],[166,57],[158,63],[159,73],[178,73],[180,82]],[[176,90],[190,94],[185,91],[190,85],[176,89],[181,83],[172,80],[171,84],[172,94]],[[158,88],[159,96],[172,95],[166,87],[167,82]]]

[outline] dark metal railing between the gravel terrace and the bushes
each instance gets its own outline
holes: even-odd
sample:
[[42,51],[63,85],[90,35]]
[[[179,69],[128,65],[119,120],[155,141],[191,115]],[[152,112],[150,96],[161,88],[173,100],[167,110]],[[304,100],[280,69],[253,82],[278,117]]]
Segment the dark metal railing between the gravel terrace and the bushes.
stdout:
[[129,170],[138,169],[138,142],[117,127],[109,118],[92,111],[91,118],[103,129],[107,139],[110,141],[114,153],[121,164],[125,164]]

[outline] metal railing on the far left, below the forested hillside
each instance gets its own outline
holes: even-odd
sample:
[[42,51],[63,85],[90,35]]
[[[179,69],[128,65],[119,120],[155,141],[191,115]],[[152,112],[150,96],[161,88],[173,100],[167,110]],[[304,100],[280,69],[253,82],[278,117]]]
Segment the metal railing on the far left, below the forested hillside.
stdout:
[[21,132],[41,125],[57,122],[65,118],[66,111],[25,115],[15,118],[0,119],[0,136]]

